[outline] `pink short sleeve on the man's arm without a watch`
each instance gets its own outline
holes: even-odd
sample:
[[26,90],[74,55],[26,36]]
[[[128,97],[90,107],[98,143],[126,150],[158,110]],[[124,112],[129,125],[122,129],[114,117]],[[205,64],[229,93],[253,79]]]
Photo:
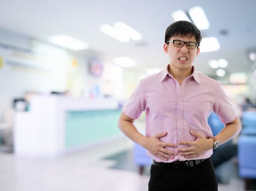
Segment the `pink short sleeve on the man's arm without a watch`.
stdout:
[[130,96],[127,103],[123,106],[124,114],[134,120],[138,119],[145,110],[146,102],[144,95],[143,83],[140,81],[139,85],[133,91],[132,96]]

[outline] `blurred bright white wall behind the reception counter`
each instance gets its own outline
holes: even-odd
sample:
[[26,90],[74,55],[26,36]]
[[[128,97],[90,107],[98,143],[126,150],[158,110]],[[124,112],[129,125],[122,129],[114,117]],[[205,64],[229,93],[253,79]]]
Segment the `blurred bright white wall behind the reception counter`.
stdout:
[[[118,71],[122,69],[111,69],[106,64],[103,76],[92,76],[88,72],[88,61],[92,58],[97,57],[90,53],[79,55],[0,29],[0,115],[14,98],[24,97],[26,92],[69,90],[74,97],[89,96],[95,85],[105,91],[106,79],[115,86],[112,90],[117,92],[112,94],[118,97],[122,87],[122,72],[120,75]],[[113,69],[117,75],[110,72]]]

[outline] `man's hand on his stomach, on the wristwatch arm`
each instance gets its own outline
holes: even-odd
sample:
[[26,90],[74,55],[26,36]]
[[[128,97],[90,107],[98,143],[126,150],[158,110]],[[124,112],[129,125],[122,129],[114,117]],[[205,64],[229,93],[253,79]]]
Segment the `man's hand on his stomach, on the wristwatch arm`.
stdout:
[[195,141],[180,141],[179,145],[188,145],[187,148],[178,148],[180,156],[185,158],[196,158],[200,154],[211,150],[213,148],[213,139],[204,138],[204,136],[198,132],[190,130],[190,134],[196,136]]

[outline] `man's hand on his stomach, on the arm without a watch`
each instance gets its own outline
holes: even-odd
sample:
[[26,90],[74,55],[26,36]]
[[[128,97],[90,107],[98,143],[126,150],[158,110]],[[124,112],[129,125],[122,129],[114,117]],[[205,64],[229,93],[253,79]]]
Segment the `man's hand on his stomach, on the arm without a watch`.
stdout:
[[161,158],[164,161],[168,159],[173,159],[177,153],[166,149],[166,147],[176,147],[177,145],[167,142],[160,141],[160,138],[166,136],[167,132],[157,133],[151,138],[146,138],[144,144],[142,145],[146,150],[148,150],[153,155]]

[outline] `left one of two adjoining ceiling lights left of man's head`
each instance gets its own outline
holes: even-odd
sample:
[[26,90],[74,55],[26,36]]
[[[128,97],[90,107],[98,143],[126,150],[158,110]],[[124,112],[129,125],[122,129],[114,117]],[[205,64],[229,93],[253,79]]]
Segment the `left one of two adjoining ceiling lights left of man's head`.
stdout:
[[118,31],[116,28],[110,26],[110,25],[102,25],[100,27],[100,31],[104,32],[107,35],[110,35],[110,37],[121,41],[123,43],[128,42],[130,39],[126,34],[123,34],[122,32]]

